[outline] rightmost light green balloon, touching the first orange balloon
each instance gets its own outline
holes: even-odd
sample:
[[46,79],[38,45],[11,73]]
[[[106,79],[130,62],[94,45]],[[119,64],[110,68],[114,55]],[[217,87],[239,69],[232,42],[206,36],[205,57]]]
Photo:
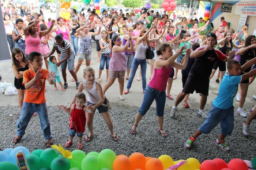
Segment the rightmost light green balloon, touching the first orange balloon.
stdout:
[[111,149],[103,149],[98,156],[99,168],[113,168],[113,162],[116,159],[116,154]]

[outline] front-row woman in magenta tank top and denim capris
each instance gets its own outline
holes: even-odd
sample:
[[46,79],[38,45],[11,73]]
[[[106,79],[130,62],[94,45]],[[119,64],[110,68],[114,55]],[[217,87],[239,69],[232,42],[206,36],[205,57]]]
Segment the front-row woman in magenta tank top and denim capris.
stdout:
[[162,137],[167,137],[167,133],[163,130],[163,112],[165,109],[165,90],[167,86],[167,80],[172,74],[172,66],[181,70],[184,70],[188,64],[188,58],[191,53],[191,49],[186,51],[185,60],[182,64],[174,62],[179,54],[185,50],[186,47],[182,47],[176,54],[173,55],[172,47],[169,44],[161,44],[157,55],[162,55],[162,58],[155,60],[154,73],[151,78],[146,92],[144,94],[142,106],[139,108],[135,122],[130,130],[130,133],[134,135],[140,119],[146,114],[151,104],[155,100],[157,104],[157,120],[158,120],[158,132]]

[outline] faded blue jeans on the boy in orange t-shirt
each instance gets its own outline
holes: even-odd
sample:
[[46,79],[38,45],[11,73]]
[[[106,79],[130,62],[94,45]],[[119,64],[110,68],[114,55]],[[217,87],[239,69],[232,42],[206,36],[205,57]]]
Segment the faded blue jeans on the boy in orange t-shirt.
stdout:
[[27,128],[27,124],[34,114],[34,112],[38,113],[39,120],[41,123],[41,129],[44,133],[44,137],[46,140],[52,139],[52,134],[50,130],[50,121],[48,118],[47,106],[46,103],[43,104],[35,104],[35,103],[26,103],[23,102],[19,119],[16,123],[17,133],[16,135],[21,137],[25,134],[25,130]]

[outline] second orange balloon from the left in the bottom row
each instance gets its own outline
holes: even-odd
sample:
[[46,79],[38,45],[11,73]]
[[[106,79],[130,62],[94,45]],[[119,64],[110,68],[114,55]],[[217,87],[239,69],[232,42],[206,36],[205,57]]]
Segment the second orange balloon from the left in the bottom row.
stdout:
[[132,169],[145,170],[146,158],[142,153],[135,152],[135,153],[131,154],[129,159],[132,162]]

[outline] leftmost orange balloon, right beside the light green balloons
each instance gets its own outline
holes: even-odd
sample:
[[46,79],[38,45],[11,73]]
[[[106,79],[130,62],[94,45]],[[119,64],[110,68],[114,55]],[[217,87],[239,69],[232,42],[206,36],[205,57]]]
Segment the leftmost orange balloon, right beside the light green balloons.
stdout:
[[132,162],[131,160],[123,155],[119,156],[114,160],[113,170],[132,170]]

